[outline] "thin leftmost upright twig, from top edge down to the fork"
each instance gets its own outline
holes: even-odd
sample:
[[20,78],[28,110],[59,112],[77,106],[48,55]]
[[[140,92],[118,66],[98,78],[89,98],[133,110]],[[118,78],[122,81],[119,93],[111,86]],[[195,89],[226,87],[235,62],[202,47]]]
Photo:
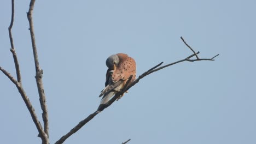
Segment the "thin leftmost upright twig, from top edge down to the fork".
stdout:
[[14,60],[14,64],[15,64],[17,80],[18,80],[18,82],[21,83],[19,61],[18,61],[16,52],[15,52],[15,48],[14,48],[13,35],[11,34],[11,28],[13,28],[13,22],[14,22],[14,0],[11,0],[11,21],[10,21],[10,26],[8,27],[9,39],[10,39],[10,45],[11,45],[10,51],[11,51],[11,53],[13,53],[13,60]]

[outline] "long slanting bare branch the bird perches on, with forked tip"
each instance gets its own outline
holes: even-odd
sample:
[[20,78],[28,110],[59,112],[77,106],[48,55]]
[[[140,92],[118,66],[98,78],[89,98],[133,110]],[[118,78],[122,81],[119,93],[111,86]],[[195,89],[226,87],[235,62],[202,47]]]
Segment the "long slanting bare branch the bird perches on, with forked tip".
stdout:
[[[184,39],[181,37],[181,39],[183,40],[183,42],[185,43]],[[94,118],[98,113],[100,113],[101,111],[103,111],[104,109],[106,109],[108,106],[110,106],[112,103],[114,103],[115,100],[117,100],[120,95],[123,95],[128,89],[130,89],[131,87],[133,87],[134,85],[136,85],[136,83],[139,82],[139,80],[141,80],[143,77],[152,74],[158,70],[164,69],[166,67],[170,67],[173,64],[177,64],[177,63],[181,63],[184,61],[188,61],[188,62],[194,62],[194,61],[214,61],[214,58],[217,57],[218,55],[212,57],[212,58],[199,58],[197,55],[199,54],[199,52],[195,53],[195,51],[187,44],[185,43],[189,49],[191,51],[193,51],[193,55],[188,56],[187,58],[184,58],[182,60],[179,60],[177,62],[173,62],[170,64],[166,64],[162,67],[160,67],[160,65],[163,63],[159,63],[158,65],[155,65],[153,68],[147,70],[146,72],[144,72],[142,75],[139,75],[138,78],[133,81],[130,85],[127,85],[127,83],[129,83],[131,81],[132,76],[129,77],[129,80],[126,82],[126,85],[124,86],[123,90],[121,90],[120,92],[116,93],[114,95],[114,97],[112,99],[110,99],[108,101],[108,103],[102,107],[101,110],[96,110],[94,113],[92,113],[91,115],[89,115],[88,117],[86,117],[83,121],[80,121],[77,125],[75,125],[75,127],[73,129],[71,129],[66,135],[63,135],[58,141],[55,142],[55,144],[60,144],[63,143],[69,136],[73,135],[75,132],[77,132],[80,128],[82,128],[86,123],[88,123],[89,121],[91,121],[92,118]],[[192,57],[197,56],[196,59],[191,59]]]

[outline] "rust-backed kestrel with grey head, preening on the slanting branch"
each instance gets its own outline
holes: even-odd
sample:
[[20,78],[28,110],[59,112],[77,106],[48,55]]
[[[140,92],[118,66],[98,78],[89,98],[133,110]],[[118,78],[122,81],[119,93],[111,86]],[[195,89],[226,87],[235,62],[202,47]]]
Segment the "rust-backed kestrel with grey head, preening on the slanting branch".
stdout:
[[[103,97],[100,106],[98,107],[98,111],[102,111],[110,98],[123,89],[130,76],[132,76],[132,78],[130,82],[127,83],[128,85],[136,80],[136,62],[127,54],[117,53],[109,56],[106,60],[106,65],[108,69],[106,73],[105,88],[99,95],[99,97]],[[123,95],[117,100],[123,97]]]

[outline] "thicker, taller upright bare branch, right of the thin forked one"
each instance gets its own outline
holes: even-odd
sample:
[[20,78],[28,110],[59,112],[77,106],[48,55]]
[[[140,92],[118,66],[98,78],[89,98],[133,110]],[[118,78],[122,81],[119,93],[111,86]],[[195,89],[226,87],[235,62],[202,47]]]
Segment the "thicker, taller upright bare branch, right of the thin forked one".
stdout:
[[[37,89],[40,99],[40,105],[41,109],[43,111],[42,117],[44,121],[44,132],[49,137],[49,122],[48,122],[48,111],[47,111],[47,105],[46,105],[46,98],[44,94],[44,86],[43,86],[43,70],[40,69],[39,61],[38,61],[38,55],[37,55],[37,47],[36,47],[36,39],[34,37],[34,27],[33,27],[33,9],[34,9],[34,2],[35,0],[30,1],[30,8],[27,12],[27,19],[30,23],[30,35],[31,35],[31,42],[32,42],[32,49],[33,49],[33,55],[34,55],[34,64],[36,67],[36,82],[37,82]],[[49,143],[49,142],[47,142]]]

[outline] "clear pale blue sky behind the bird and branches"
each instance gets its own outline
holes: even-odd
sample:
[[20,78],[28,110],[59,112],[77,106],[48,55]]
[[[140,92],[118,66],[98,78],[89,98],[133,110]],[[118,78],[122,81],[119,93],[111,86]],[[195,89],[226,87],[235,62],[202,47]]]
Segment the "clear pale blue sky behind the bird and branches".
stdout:
[[[0,2],[0,65],[9,51],[10,1]],[[42,122],[26,12],[15,2],[13,38],[23,85]],[[256,143],[255,1],[37,1],[34,29],[48,104],[50,143],[97,109],[106,58],[135,58],[137,75],[200,57],[141,80],[65,143]],[[0,74],[2,143],[40,143],[16,87]]]

